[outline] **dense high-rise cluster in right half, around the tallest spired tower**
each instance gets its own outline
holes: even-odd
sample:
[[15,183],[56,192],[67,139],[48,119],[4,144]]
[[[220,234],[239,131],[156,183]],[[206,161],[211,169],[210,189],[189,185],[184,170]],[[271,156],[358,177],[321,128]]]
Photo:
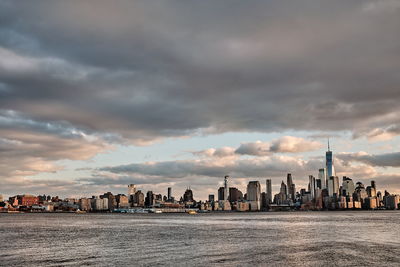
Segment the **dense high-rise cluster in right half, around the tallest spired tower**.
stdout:
[[272,181],[267,179],[265,192],[259,181],[250,181],[247,193],[243,194],[235,187],[228,187],[228,176],[224,187],[218,189],[218,201],[210,195],[208,201],[201,203],[206,210],[270,211],[270,210],[346,210],[346,209],[400,209],[400,196],[376,189],[375,181],[365,186],[344,176],[342,181],[336,176],[333,153],[329,147],[326,152],[326,164],[319,169],[318,177],[309,175],[308,187],[296,191],[296,185],[290,173],[286,183],[281,182],[279,192],[272,194]]

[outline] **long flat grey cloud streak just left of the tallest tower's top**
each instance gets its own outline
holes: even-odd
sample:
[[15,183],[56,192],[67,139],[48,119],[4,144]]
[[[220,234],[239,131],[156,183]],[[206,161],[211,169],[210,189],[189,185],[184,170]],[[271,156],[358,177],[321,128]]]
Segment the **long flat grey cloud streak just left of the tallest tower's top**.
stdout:
[[304,161],[294,157],[271,156],[252,159],[202,159],[162,162],[133,163],[104,167],[100,171],[116,174],[144,175],[181,179],[190,176],[223,177],[268,177],[284,176],[287,172],[307,172],[322,166],[320,161]]

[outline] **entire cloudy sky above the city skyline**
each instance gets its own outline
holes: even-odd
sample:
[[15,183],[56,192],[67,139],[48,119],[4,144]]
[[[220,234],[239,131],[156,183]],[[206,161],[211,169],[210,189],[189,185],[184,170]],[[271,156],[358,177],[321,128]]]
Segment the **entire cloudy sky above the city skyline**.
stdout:
[[400,1],[0,0],[0,194],[400,193]]

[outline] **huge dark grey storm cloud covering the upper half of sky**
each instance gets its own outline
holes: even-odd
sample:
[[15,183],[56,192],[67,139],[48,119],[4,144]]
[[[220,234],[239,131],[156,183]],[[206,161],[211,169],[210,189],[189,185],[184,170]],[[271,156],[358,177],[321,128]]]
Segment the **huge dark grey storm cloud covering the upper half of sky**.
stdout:
[[0,12],[0,104],[45,120],[139,143],[399,122],[396,2],[3,1]]

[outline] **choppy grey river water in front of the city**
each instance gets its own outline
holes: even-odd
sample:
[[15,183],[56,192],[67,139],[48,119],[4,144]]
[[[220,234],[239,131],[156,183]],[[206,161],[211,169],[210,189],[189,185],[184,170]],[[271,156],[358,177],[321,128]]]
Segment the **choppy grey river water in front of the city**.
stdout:
[[0,214],[0,265],[400,266],[400,212]]

